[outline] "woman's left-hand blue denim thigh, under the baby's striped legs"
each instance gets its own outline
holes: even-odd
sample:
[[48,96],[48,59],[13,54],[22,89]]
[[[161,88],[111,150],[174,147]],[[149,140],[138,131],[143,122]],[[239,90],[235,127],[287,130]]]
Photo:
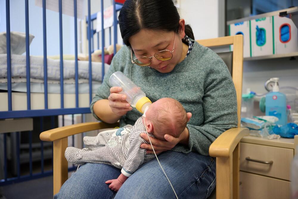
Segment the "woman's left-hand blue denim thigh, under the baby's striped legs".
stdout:
[[120,169],[107,164],[85,163],[72,173],[54,198],[113,198],[116,192],[105,181],[116,179]]

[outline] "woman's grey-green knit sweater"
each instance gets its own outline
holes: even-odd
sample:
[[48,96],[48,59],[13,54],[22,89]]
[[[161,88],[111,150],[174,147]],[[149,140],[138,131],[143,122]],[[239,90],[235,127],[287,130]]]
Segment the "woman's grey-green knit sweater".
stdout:
[[[192,117],[187,124],[188,146],[178,144],[173,151],[196,151],[209,154],[209,146],[224,131],[237,126],[237,100],[232,77],[222,59],[211,49],[197,42],[190,54],[170,73],[159,73],[149,67],[131,63],[130,50],[123,47],[112,60],[102,85],[91,102],[91,112],[97,100],[108,99],[109,77],[122,71],[152,101],[171,97],[178,100]],[[133,108],[121,117],[120,126],[134,125],[142,114]]]

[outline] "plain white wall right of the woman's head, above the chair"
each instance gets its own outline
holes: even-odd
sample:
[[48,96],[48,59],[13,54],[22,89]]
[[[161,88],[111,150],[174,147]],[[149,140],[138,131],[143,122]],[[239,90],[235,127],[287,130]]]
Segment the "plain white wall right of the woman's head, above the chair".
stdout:
[[180,0],[179,14],[195,39],[224,36],[224,0]]

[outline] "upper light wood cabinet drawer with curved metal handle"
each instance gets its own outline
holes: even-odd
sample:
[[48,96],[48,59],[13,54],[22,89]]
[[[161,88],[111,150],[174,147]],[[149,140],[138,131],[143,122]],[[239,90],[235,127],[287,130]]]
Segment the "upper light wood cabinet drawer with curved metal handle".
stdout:
[[[259,144],[240,143],[240,170],[283,180],[290,180],[293,149]],[[261,160],[267,163],[253,162]],[[273,163],[270,163],[273,161]]]

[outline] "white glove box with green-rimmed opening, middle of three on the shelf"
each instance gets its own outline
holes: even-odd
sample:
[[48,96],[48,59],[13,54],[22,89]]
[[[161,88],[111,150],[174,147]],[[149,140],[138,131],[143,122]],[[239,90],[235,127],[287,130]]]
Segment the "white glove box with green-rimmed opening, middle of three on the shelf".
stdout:
[[251,56],[274,54],[273,17],[250,20]]

